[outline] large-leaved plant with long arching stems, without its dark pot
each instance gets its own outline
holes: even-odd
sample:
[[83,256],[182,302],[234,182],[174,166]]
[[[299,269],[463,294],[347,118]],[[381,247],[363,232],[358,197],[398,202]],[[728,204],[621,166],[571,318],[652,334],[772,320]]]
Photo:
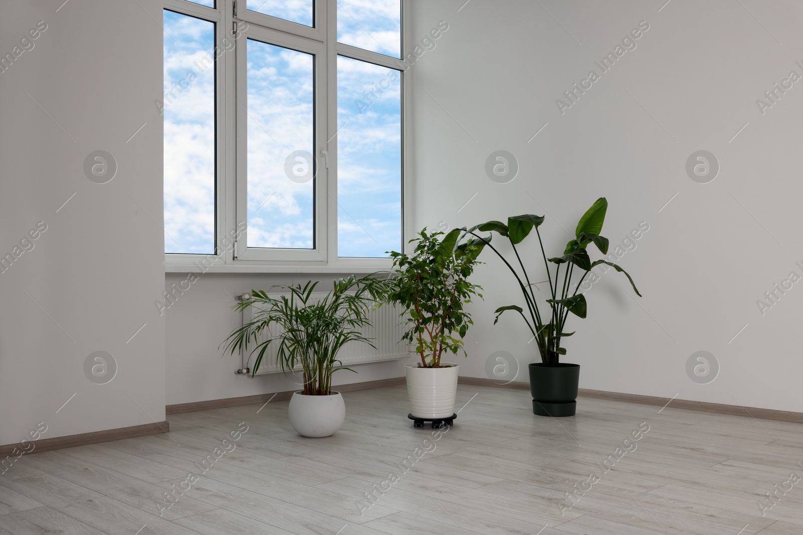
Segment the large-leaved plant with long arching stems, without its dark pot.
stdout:
[[[585,318],[586,302],[585,295],[578,294],[577,290],[589,274],[590,270],[595,265],[606,264],[613,267],[614,270],[626,275],[633,286],[634,292],[641,297],[642,294],[638,293],[633,279],[630,278],[625,270],[621,267],[606,260],[591,261],[586,246],[592,244],[600,250],[602,254],[608,253],[608,238],[601,237],[602,224],[605,221],[605,212],[608,209],[608,201],[605,197],[600,197],[589,208],[580,221],[577,222],[577,229],[575,230],[575,237],[566,244],[563,255],[560,257],[547,258],[544,253],[544,242],[541,240],[539,231],[540,225],[544,222],[543,216],[534,216],[526,214],[523,216],[514,216],[507,218],[507,225],[501,221],[488,221],[482,225],[476,225],[468,229],[467,233],[471,234],[475,239],[482,240],[484,245],[496,253],[502,259],[504,265],[511,271],[519,283],[522,294],[524,295],[525,308],[517,305],[500,306],[495,310],[496,317],[494,325],[499,321],[499,316],[508,310],[515,310],[532,332],[533,337],[536,339],[538,351],[540,352],[541,362],[544,366],[556,367],[560,361],[560,355],[566,355],[565,347],[561,347],[560,342],[564,337],[571,336],[573,332],[565,332],[566,322],[569,319],[569,313],[576,315],[578,318]],[[546,281],[540,281],[533,284],[524,262],[521,260],[519,250],[516,245],[524,241],[532,231],[536,231],[538,241],[541,249],[541,257],[544,259],[544,268],[546,269]],[[516,256],[515,262],[518,264],[519,270],[516,270],[510,261],[499,253],[499,250],[491,245],[490,236],[482,237],[475,231],[479,232],[492,232],[498,233],[499,236],[507,237],[512,245],[513,253]],[[550,268],[552,267],[552,270]],[[560,270],[563,270],[561,274]],[[575,275],[575,268],[582,274],[580,280],[573,284],[573,277]],[[563,280],[561,280],[561,275]],[[538,306],[536,293],[533,287],[541,282],[548,282],[549,292],[548,298],[545,300],[548,308],[541,310]],[[537,287],[536,287],[537,290]],[[525,310],[526,309],[526,310]]]

